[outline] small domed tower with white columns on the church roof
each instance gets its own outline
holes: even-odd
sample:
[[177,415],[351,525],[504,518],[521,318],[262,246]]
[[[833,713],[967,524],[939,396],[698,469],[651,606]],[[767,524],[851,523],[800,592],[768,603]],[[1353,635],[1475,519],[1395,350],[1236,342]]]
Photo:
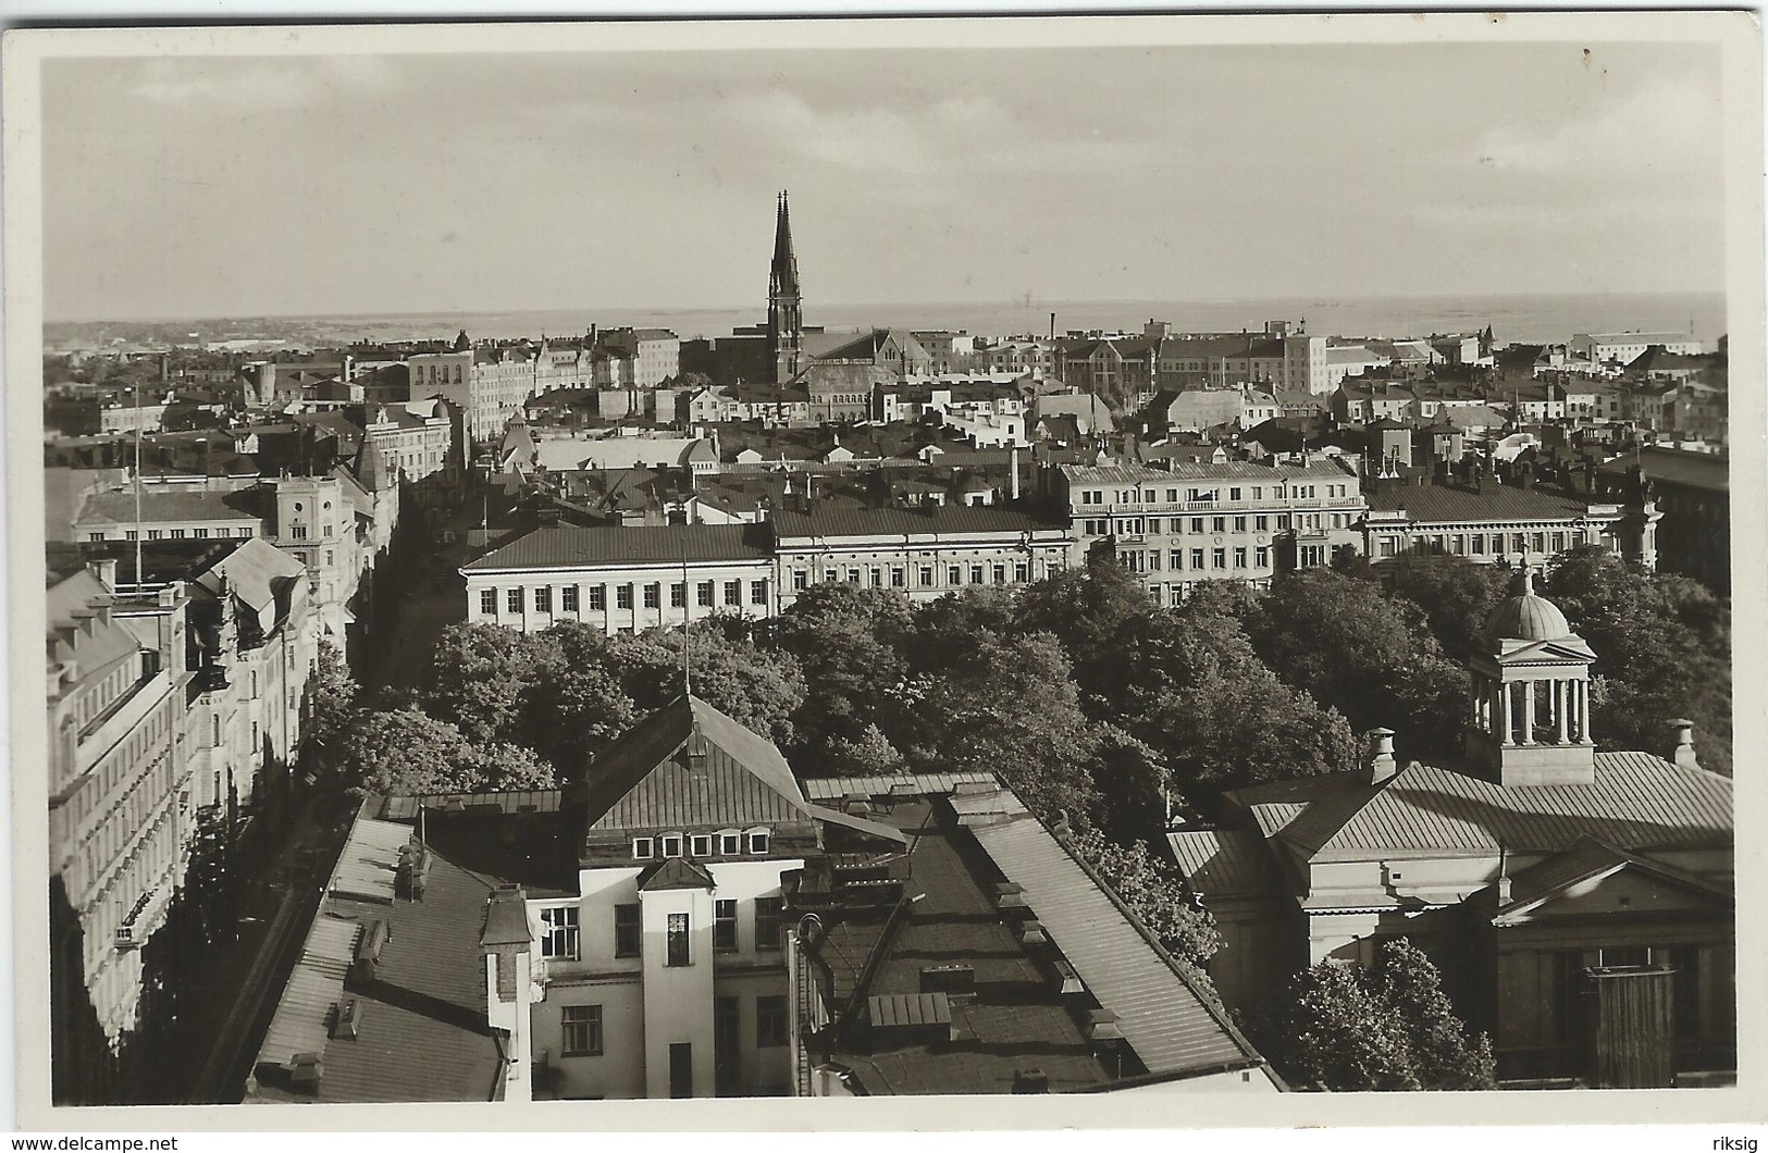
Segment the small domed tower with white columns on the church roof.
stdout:
[[1535,575],[1524,569],[1520,591],[1487,617],[1485,644],[1469,661],[1469,757],[1506,789],[1595,783],[1595,660],[1559,607],[1535,594]]

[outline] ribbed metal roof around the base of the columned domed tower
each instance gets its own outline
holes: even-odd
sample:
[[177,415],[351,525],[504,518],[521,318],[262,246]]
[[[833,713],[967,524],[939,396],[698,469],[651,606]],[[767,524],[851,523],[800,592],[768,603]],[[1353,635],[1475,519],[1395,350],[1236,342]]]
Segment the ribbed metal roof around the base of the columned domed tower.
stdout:
[[[1303,778],[1307,796],[1276,838],[1315,861],[1372,854],[1559,852],[1584,836],[1621,849],[1729,845],[1731,780],[1637,752],[1597,753],[1595,783],[1505,789],[1430,764],[1381,785],[1356,775]],[[1308,783],[1319,782],[1312,790]],[[1231,794],[1257,805],[1257,790]],[[1294,799],[1294,798],[1285,798]]]

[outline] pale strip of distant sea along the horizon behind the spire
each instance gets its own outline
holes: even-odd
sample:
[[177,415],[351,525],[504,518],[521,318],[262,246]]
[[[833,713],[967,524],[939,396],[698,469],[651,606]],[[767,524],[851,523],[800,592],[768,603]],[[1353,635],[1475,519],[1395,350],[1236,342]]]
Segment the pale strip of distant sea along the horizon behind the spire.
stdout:
[[[1245,299],[1245,301],[1040,301],[1020,297],[1002,302],[919,304],[829,304],[806,301],[804,322],[829,331],[872,327],[944,329],[974,336],[1043,336],[1050,331],[1140,331],[1147,320],[1163,320],[1174,332],[1262,331],[1266,320],[1307,322],[1307,331],[1326,336],[1430,336],[1476,332],[1487,325],[1497,343],[1565,341],[1574,332],[1692,332],[1713,343],[1727,331],[1726,295],[1720,292],[1665,294],[1561,294],[1561,295],[1460,295],[1460,297],[1365,297],[1365,299]],[[453,338],[465,329],[474,340],[575,336],[592,324],[608,327],[667,327],[684,340],[728,336],[734,327],[764,318],[760,306],[746,308],[575,308],[546,311],[458,311],[385,313],[331,317],[256,317],[189,320],[205,340],[274,340],[295,347],[347,345],[354,341],[398,341]],[[46,340],[67,340],[74,331],[117,329],[126,322],[50,324]],[[161,334],[179,324],[143,322]],[[182,336],[175,334],[175,336]],[[164,338],[164,336],[163,336]]]

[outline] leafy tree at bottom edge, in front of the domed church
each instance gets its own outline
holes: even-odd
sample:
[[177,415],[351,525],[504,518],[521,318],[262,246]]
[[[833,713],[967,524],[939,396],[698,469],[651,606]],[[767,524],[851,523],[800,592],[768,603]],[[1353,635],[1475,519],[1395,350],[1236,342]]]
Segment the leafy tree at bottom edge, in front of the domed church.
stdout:
[[1490,1040],[1455,1015],[1436,966],[1404,937],[1370,969],[1324,960],[1299,973],[1266,1056],[1308,1089],[1497,1088]]

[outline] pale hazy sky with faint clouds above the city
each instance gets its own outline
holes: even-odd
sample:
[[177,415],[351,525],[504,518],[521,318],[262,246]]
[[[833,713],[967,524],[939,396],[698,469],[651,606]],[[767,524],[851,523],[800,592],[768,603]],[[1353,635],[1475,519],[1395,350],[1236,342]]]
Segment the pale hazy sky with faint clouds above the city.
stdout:
[[1717,53],[44,62],[50,320],[1724,286]]

